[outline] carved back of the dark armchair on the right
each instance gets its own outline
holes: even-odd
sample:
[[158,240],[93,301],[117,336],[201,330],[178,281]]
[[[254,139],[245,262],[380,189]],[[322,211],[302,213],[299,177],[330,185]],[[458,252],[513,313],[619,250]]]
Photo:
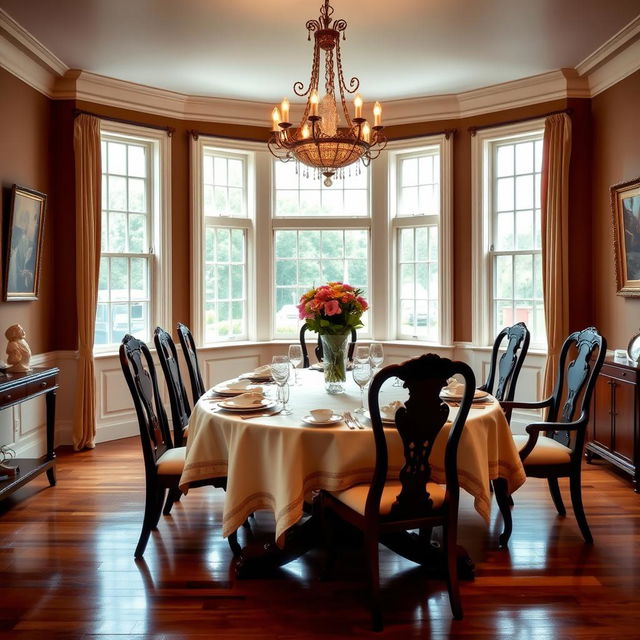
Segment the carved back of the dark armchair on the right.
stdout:
[[[572,360],[572,354],[575,354]],[[591,396],[596,378],[607,354],[607,341],[597,329],[589,327],[575,331],[562,345],[556,383],[547,412],[547,422],[582,420],[583,427],[573,432],[549,431],[547,436],[571,447],[582,455]],[[575,437],[570,437],[575,433]]]

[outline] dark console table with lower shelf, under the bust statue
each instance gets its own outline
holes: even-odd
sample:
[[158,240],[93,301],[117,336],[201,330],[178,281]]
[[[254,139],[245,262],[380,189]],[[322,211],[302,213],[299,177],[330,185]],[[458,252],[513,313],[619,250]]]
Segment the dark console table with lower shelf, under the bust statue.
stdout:
[[[56,483],[54,446],[54,428],[56,413],[56,389],[58,373],[56,367],[35,367],[25,373],[0,372],[0,410],[8,409],[21,402],[45,395],[47,403],[47,453],[42,458],[12,458],[7,460],[11,466],[17,465],[15,476],[0,480],[0,500],[30,482],[40,473],[47,472],[49,484]],[[0,472],[0,476],[1,476]]]

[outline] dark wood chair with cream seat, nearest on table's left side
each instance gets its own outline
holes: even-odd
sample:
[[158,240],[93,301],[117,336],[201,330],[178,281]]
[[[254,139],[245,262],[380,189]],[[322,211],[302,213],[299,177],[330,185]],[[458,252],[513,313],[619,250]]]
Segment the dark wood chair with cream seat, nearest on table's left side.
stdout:
[[[185,447],[173,446],[167,414],[158,391],[155,365],[147,345],[132,335],[125,335],[120,344],[120,365],[133,398],[144,458],[144,517],[134,554],[136,558],[141,558],[151,531],[158,527],[160,514],[171,513],[176,492],[179,492],[186,450]],[[224,487],[226,478],[213,478],[200,485]],[[229,536],[229,545],[234,554],[240,553],[235,534]]]

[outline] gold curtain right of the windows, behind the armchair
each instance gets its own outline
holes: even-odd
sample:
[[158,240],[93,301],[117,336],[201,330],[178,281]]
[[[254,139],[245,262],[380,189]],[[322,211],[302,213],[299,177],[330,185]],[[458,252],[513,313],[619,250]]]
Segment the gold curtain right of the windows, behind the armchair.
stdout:
[[549,116],[544,125],[542,157],[542,287],[547,328],[544,395],[555,384],[558,356],[569,334],[569,160],[571,119]]

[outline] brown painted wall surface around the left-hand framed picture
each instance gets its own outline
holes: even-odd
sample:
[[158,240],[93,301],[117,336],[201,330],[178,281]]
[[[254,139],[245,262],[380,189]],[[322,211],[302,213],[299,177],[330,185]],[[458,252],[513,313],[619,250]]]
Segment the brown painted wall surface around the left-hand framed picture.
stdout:
[[[5,329],[23,326],[34,353],[55,348],[52,322],[54,306],[54,229],[56,199],[50,178],[52,140],[51,104],[40,93],[0,69],[0,211],[2,212],[2,261],[4,278],[6,227],[11,187],[18,184],[47,194],[40,297],[32,302],[0,302],[0,359],[5,357]],[[0,298],[1,299],[1,298]]]

